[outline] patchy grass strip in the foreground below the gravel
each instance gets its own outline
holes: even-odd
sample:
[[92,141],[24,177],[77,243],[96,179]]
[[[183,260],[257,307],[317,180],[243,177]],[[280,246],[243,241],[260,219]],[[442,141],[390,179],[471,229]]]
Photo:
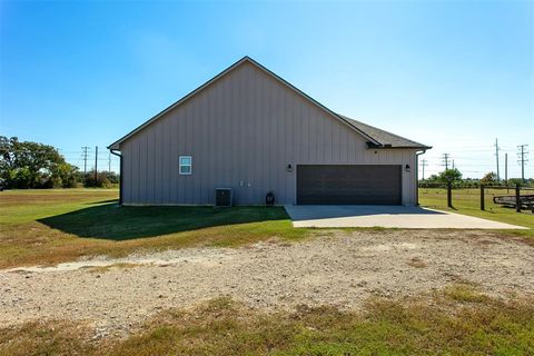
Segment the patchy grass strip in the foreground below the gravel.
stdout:
[[[464,287],[452,286],[447,293],[455,288]],[[360,312],[301,306],[270,314],[219,298],[195,309],[165,310],[126,339],[93,342],[89,329],[61,323],[0,329],[0,355],[534,353],[534,300],[481,299],[463,291],[459,296],[436,295],[431,303],[372,299]]]

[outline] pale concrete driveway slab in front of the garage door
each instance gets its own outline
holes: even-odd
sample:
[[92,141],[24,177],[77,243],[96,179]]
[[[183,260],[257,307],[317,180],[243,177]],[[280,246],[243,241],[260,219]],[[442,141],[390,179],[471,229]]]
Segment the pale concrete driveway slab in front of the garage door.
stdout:
[[285,208],[295,227],[526,229],[521,226],[421,207],[287,205]]

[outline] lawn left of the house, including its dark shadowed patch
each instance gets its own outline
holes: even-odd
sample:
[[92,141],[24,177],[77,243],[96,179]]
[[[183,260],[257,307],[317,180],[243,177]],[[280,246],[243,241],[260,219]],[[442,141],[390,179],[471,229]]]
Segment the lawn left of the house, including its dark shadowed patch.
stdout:
[[117,207],[116,189],[13,190],[0,194],[0,268],[50,265],[138,250],[240,246],[309,230],[281,207]]

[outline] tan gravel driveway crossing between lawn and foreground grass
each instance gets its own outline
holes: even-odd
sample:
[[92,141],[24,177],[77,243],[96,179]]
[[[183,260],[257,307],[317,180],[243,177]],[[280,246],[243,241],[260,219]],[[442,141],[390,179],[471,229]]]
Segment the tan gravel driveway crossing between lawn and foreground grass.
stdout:
[[[305,243],[169,250],[53,268],[0,270],[0,325],[87,322],[122,335],[168,307],[231,296],[254,308],[404,297],[468,280],[493,296],[534,294],[534,248],[486,231],[325,231]],[[134,268],[95,271],[118,263]]]

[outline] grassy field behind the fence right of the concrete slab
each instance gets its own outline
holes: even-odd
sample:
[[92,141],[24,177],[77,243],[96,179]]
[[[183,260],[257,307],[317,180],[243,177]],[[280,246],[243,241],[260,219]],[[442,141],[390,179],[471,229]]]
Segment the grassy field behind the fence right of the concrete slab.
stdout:
[[[473,189],[453,189],[453,209],[447,207],[447,190],[437,188],[419,188],[419,204],[425,207],[448,210],[458,214],[471,215],[484,219],[507,222],[528,227],[534,229],[534,215],[528,210],[516,212],[513,208],[506,208],[493,202],[495,195],[514,195],[514,189],[510,194],[503,189],[486,189],[485,210],[481,210],[481,191]],[[534,235],[531,230],[530,234]]]

